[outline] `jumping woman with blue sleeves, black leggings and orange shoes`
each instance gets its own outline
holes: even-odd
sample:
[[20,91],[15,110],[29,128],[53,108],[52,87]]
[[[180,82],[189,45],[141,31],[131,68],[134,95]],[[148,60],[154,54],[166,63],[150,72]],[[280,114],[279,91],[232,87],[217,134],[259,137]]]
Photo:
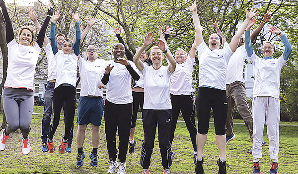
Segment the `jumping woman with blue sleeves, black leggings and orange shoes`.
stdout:
[[80,22],[79,15],[72,14],[75,22],[75,43],[71,40],[64,40],[62,42],[62,52],[58,50],[57,39],[55,36],[56,21],[60,14],[55,14],[51,22],[50,41],[51,47],[56,61],[56,83],[53,93],[53,120],[50,125],[50,131],[47,137],[48,150],[50,153],[55,151],[53,143],[53,136],[60,121],[60,112],[63,103],[65,102],[66,124],[65,132],[61,137],[61,145],[59,146],[59,153],[64,153],[68,145],[68,139],[74,125],[74,112],[75,112],[75,79],[77,59],[79,56],[80,46]]

